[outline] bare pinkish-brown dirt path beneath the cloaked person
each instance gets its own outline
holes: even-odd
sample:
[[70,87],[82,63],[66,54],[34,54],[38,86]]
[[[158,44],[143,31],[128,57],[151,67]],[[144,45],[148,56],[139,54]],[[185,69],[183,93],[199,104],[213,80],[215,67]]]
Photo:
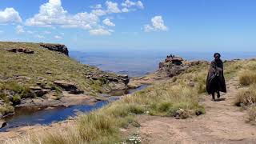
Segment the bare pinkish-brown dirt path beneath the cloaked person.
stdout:
[[206,114],[198,118],[142,116],[142,143],[256,143],[256,126],[246,123],[246,112],[232,105],[237,83],[234,78],[227,83],[228,93],[222,96],[225,101],[203,98]]

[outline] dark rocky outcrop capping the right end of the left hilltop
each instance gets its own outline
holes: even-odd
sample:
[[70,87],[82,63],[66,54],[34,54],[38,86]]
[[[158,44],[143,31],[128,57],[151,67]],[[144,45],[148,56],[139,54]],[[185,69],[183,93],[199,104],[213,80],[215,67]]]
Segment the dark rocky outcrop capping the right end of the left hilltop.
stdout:
[[66,54],[67,56],[69,55],[69,50],[67,49],[67,47],[65,45],[41,43],[40,46],[42,46],[43,48],[46,48],[48,50],[58,51],[62,54]]

